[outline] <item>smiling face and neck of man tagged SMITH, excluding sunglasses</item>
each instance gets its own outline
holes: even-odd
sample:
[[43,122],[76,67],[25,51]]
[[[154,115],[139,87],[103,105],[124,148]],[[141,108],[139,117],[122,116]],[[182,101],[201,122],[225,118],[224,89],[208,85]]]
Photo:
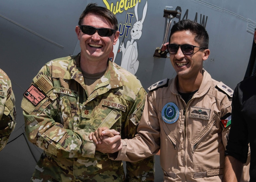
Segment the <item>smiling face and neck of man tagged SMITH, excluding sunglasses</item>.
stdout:
[[[84,17],[81,25],[90,25],[96,28],[111,28],[110,21],[104,17],[88,14]],[[81,61],[107,61],[112,46],[117,43],[119,32],[110,37],[101,37],[96,31],[93,35],[84,34],[79,26],[75,27],[77,38],[80,41]]]

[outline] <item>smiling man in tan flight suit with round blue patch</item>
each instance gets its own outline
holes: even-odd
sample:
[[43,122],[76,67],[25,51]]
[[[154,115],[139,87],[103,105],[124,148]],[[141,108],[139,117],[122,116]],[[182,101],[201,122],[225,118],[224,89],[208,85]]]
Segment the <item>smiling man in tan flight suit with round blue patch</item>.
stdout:
[[[149,88],[138,134],[121,140],[112,150],[119,152],[110,158],[138,161],[160,149],[164,181],[222,181],[233,91],[203,69],[208,41],[205,28],[196,22],[173,25],[167,50],[177,76]],[[104,135],[117,134],[105,129],[89,138],[100,143]]]

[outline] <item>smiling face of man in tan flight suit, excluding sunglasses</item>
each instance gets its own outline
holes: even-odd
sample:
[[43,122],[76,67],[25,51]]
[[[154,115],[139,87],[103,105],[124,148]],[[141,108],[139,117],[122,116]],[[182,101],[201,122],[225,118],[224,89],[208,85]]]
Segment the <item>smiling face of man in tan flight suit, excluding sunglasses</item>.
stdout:
[[[182,30],[175,32],[169,40],[172,44],[190,44],[200,46],[194,40],[193,35],[188,30]],[[176,54],[170,54],[170,60],[173,68],[178,74],[180,79],[194,79],[203,76],[203,61],[208,58],[210,54],[209,49],[194,48],[194,52],[191,55],[184,55],[181,51],[181,47]]]

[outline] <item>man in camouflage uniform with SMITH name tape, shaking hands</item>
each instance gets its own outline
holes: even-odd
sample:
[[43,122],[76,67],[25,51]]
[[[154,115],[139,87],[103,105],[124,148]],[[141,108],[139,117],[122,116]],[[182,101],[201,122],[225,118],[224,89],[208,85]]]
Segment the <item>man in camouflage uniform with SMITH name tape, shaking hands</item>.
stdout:
[[133,138],[144,108],[139,80],[108,58],[117,30],[111,11],[89,4],[75,28],[81,53],[45,64],[24,93],[26,135],[44,150],[31,181],[154,181],[153,157],[127,162],[125,177],[88,138],[102,126]]

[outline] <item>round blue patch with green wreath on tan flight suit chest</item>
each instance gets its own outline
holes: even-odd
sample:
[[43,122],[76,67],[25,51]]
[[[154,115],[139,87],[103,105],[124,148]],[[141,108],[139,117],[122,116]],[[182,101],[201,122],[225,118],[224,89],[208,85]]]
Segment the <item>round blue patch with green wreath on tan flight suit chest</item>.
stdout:
[[167,103],[162,109],[162,119],[165,123],[175,123],[180,115],[179,108],[172,102]]

